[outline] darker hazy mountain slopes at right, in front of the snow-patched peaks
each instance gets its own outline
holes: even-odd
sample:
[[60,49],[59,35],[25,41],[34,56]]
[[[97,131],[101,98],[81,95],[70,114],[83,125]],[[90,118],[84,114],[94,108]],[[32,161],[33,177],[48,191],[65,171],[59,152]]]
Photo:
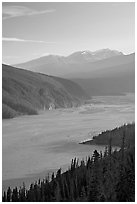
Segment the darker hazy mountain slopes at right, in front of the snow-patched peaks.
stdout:
[[69,76],[90,95],[119,95],[135,92],[135,54],[94,63],[90,72]]

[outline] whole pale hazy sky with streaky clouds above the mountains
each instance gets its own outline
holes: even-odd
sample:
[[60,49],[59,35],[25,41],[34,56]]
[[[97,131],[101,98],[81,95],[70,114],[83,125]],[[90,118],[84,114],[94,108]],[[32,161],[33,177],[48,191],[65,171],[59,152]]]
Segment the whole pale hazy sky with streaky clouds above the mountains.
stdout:
[[134,52],[134,3],[3,3],[3,62],[46,54]]

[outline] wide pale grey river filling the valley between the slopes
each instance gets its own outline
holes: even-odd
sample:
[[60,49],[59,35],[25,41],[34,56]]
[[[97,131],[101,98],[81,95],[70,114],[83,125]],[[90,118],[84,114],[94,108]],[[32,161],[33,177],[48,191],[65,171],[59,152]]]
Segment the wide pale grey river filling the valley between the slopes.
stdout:
[[104,146],[82,145],[100,131],[135,121],[134,95],[93,97],[78,108],[56,109],[2,123],[3,189],[26,185],[58,168],[67,169],[74,157],[85,158]]

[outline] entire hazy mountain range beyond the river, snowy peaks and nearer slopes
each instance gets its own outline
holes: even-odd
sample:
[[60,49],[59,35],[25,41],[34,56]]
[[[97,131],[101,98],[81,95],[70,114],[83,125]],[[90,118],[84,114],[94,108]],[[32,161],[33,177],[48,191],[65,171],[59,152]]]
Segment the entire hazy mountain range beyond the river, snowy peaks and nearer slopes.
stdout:
[[73,80],[91,96],[135,91],[135,53],[85,50],[67,57],[48,55],[15,66]]

